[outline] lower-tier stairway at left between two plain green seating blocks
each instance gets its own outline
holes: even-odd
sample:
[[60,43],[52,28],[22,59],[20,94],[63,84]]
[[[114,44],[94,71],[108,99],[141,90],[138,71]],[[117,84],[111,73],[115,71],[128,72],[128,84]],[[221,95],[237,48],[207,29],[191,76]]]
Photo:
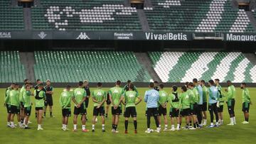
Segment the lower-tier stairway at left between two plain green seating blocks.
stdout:
[[36,82],[33,65],[35,65],[35,56],[33,52],[19,52],[20,62],[26,70],[26,78],[31,82]]

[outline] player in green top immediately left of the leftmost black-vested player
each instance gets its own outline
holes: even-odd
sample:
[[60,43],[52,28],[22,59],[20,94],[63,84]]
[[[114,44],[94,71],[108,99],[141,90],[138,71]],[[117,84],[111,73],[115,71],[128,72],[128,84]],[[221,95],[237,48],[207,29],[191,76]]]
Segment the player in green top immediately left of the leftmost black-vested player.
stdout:
[[31,115],[31,96],[33,94],[31,93],[31,85],[28,83],[25,86],[25,92],[23,92],[23,99],[24,99],[24,112],[25,112],[25,119],[24,119],[24,125],[25,129],[30,129],[28,128],[28,121],[29,121],[29,116]]

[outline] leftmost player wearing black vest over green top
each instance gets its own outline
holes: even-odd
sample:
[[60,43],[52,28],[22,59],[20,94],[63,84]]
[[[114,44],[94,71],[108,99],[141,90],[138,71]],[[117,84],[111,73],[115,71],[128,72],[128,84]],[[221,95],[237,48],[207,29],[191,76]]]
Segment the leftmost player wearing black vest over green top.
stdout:
[[34,92],[36,101],[36,116],[38,121],[38,131],[43,130],[42,128],[42,117],[43,117],[43,107],[44,101],[46,99],[46,92],[43,91],[43,83],[38,84],[38,89]]

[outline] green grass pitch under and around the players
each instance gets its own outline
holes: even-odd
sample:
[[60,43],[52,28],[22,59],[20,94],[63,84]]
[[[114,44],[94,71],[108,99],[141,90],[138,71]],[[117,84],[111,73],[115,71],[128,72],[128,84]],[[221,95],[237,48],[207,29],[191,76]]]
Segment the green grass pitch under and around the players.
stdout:
[[[4,104],[4,90],[0,89],[1,104]],[[91,88],[93,90],[93,88]],[[140,96],[144,96],[146,88],[139,88]],[[166,88],[170,92],[170,88]],[[224,106],[224,126],[219,128],[203,128],[196,131],[174,131],[174,132],[161,132],[161,133],[150,133],[146,134],[146,117],[144,116],[145,103],[142,102],[137,106],[137,121],[138,121],[138,134],[133,133],[133,121],[129,121],[129,134],[124,134],[124,118],[120,118],[119,122],[119,133],[111,133],[111,114],[110,118],[106,120],[106,133],[101,132],[101,123],[97,123],[95,126],[95,133],[82,133],[78,131],[73,133],[73,116],[70,117],[68,128],[70,131],[62,131],[60,128],[61,123],[61,109],[58,104],[58,98],[60,92],[63,89],[55,89],[54,94],[54,107],[53,114],[55,118],[47,117],[43,119],[44,131],[37,131],[36,118],[34,108],[31,113],[31,130],[23,130],[20,128],[11,129],[6,127],[6,109],[4,106],[0,107],[1,118],[0,118],[0,142],[1,143],[253,143],[255,138],[256,129],[256,117],[255,117],[255,104],[250,107],[250,124],[242,125],[244,121],[242,114],[242,96],[241,89],[237,89],[237,97],[235,104],[236,113],[236,126],[226,126],[229,123],[229,116],[227,106]],[[256,101],[256,89],[250,89],[250,95],[252,102]],[[90,107],[87,109],[87,117],[89,121],[86,126],[91,130],[91,119],[92,119],[92,101],[90,101]],[[111,113],[111,111],[110,111]],[[100,120],[100,118],[99,118]],[[16,120],[15,120],[15,123]],[[208,114],[209,123],[209,114]],[[171,123],[169,122],[169,128]],[[81,128],[79,121],[78,128]],[[151,128],[155,128],[153,118],[151,118]]]

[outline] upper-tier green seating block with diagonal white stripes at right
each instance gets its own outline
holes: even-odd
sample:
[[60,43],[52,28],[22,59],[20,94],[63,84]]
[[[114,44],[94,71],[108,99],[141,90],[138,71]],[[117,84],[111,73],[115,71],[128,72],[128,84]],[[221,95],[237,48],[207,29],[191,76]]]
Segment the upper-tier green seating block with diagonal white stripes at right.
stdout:
[[227,0],[152,1],[145,8],[151,30],[195,32],[254,32],[247,14]]

